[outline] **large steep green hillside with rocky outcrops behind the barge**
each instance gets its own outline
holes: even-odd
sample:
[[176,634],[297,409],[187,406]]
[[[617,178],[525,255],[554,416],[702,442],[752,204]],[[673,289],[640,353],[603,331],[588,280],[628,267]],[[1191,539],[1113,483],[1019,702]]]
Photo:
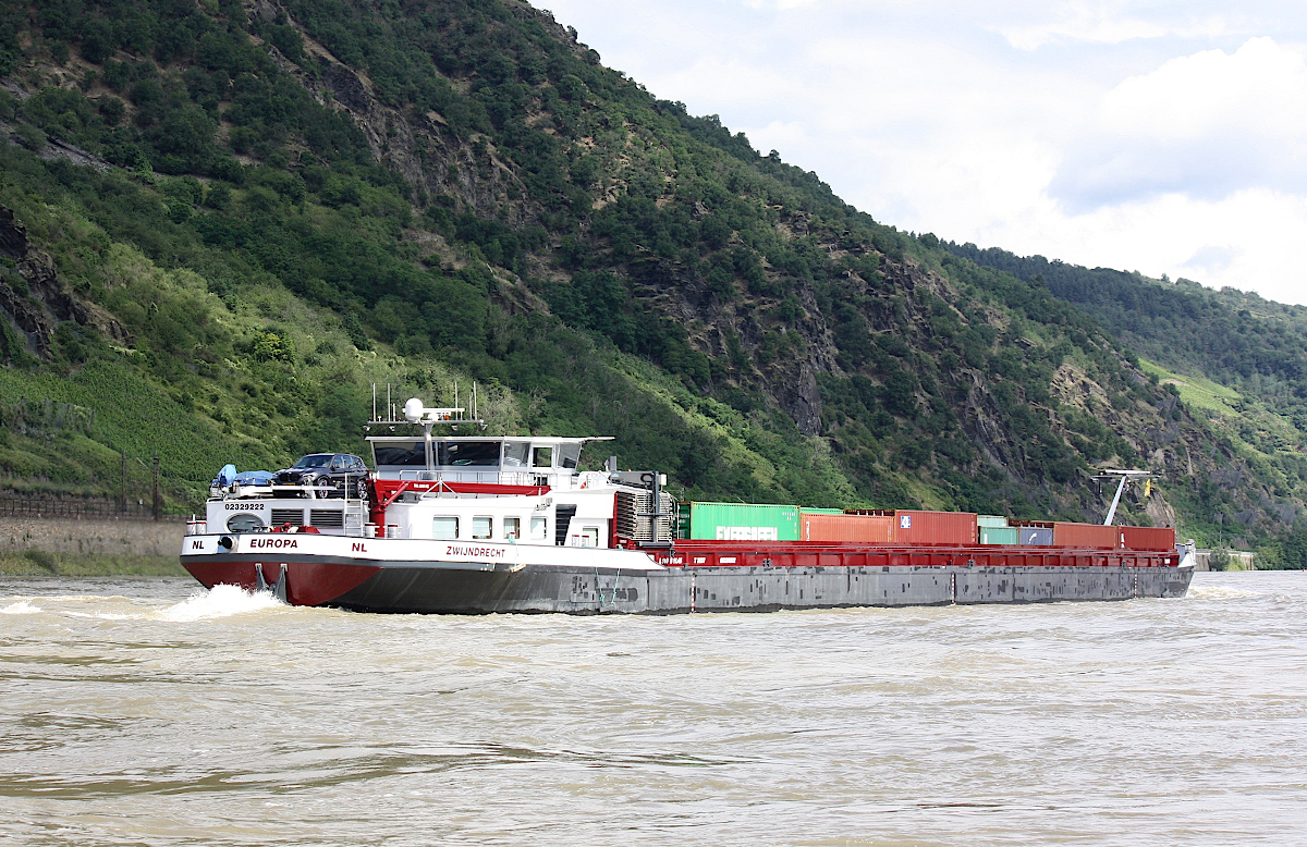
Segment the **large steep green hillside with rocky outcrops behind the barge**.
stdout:
[[499,431],[616,435],[685,497],[1091,519],[1094,468],[1136,465],[1163,478],[1128,519],[1290,550],[1307,471],[1106,316],[873,221],[523,3],[3,16],[10,486],[112,494],[157,450],[184,508],[225,461],[361,450],[372,382],[457,379]]

